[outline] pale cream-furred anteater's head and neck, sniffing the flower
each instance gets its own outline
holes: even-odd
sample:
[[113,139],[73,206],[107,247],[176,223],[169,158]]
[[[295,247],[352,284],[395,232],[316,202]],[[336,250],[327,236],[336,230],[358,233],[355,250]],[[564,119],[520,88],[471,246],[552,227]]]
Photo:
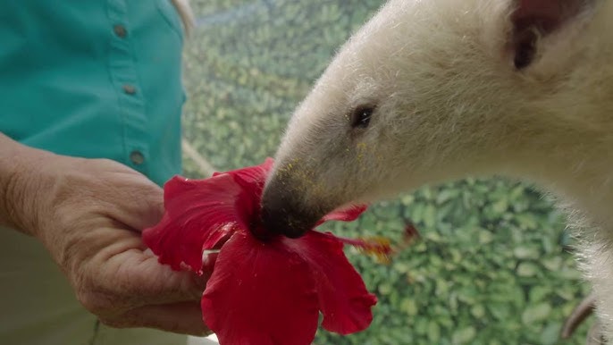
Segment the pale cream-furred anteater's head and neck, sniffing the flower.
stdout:
[[391,0],[293,115],[264,221],[299,236],[425,183],[533,182],[569,211],[613,338],[611,58],[611,1]]

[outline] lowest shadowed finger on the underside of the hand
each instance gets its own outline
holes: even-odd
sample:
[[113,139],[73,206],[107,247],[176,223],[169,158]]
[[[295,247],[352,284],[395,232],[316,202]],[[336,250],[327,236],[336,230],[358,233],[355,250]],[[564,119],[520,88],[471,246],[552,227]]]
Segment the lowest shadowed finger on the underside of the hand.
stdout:
[[114,319],[101,318],[100,321],[117,328],[147,327],[196,336],[211,333],[202,320],[200,302],[144,306],[127,311]]

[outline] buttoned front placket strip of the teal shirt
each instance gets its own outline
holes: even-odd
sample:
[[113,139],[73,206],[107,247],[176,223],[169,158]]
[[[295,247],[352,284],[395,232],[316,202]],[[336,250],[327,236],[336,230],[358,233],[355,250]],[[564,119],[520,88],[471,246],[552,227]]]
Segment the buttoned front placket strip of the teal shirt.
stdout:
[[109,29],[113,30],[108,65],[122,119],[122,161],[147,174],[149,147],[145,98],[139,85],[126,1],[109,0],[107,12]]

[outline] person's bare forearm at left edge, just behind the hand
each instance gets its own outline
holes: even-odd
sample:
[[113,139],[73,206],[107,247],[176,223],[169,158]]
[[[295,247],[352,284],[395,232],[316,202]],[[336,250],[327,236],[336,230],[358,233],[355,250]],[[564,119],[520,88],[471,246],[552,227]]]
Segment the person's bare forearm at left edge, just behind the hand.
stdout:
[[0,225],[34,234],[39,190],[35,173],[53,154],[27,147],[0,132]]

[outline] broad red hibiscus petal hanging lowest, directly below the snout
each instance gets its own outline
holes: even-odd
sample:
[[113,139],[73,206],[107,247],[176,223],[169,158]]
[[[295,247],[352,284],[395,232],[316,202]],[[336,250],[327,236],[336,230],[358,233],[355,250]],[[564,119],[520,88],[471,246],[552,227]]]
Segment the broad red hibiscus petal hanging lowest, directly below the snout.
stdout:
[[308,345],[318,298],[303,258],[281,241],[235,232],[217,257],[202,297],[206,325],[223,345]]

